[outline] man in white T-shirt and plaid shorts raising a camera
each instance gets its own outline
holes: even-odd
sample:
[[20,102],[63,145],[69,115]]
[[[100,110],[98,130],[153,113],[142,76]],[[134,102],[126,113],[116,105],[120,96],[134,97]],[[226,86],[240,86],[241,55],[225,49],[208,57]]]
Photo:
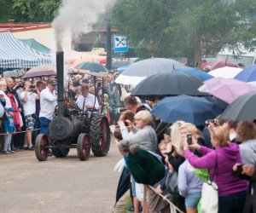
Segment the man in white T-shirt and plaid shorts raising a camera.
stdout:
[[32,146],[32,130],[34,130],[36,116],[36,100],[40,97],[40,92],[32,82],[25,82],[25,91],[20,93],[20,99],[23,103],[24,118],[26,124],[26,135],[24,141],[24,149],[34,150]]

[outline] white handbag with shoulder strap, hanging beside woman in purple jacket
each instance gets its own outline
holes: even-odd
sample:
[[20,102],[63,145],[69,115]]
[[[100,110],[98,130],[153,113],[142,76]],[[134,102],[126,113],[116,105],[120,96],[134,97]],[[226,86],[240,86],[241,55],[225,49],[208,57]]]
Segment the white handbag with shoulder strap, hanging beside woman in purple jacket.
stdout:
[[[217,172],[218,166],[218,153],[215,169],[212,174],[212,180]],[[218,186],[214,181],[211,181],[209,178],[208,181],[205,181],[201,189],[201,213],[218,213]]]

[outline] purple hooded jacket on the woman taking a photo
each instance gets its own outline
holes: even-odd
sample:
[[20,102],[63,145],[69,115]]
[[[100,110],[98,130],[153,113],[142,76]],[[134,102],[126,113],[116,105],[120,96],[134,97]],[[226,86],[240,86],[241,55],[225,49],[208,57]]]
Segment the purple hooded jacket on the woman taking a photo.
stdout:
[[199,151],[203,155],[201,158],[189,150],[185,150],[184,155],[195,168],[209,170],[211,180],[218,185],[219,197],[247,191],[247,181],[232,176],[234,164],[241,163],[237,144],[230,143],[229,146],[218,147],[216,150],[201,146]]

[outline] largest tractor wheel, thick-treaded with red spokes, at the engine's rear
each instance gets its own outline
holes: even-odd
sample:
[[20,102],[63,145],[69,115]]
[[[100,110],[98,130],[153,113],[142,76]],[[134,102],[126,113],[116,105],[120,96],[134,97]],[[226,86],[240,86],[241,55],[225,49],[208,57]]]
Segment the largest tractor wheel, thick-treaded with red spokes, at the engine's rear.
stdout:
[[96,157],[106,156],[110,147],[110,129],[108,118],[93,114],[90,121],[90,145]]

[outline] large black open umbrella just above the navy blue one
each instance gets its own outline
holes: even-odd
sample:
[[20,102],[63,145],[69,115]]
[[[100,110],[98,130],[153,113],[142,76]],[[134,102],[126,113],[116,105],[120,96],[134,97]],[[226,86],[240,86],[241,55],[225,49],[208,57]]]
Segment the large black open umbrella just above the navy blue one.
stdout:
[[167,72],[144,79],[133,89],[131,95],[136,95],[143,99],[150,99],[150,96],[207,95],[197,90],[201,85],[201,79],[195,76],[180,72]]

